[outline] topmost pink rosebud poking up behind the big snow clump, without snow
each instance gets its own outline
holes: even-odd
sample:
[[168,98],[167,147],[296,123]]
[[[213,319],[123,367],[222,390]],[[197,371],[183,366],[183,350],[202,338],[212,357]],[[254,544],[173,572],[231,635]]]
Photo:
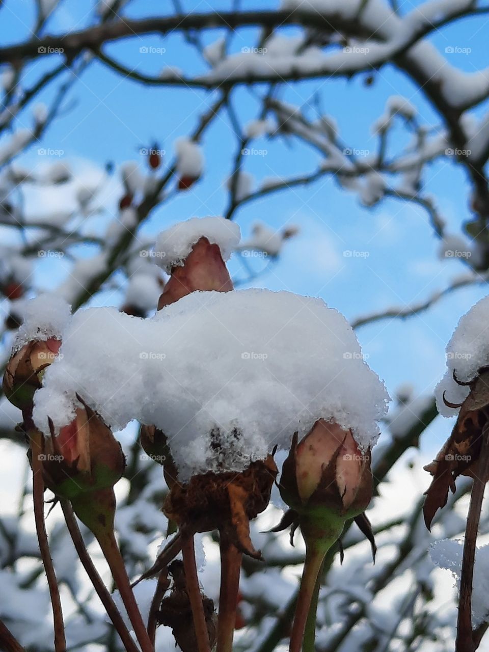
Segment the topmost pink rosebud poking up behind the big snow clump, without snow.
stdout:
[[158,301],[158,310],[196,290],[229,292],[233,289],[230,273],[218,244],[205,237],[194,244],[183,265],[171,269],[170,280]]

